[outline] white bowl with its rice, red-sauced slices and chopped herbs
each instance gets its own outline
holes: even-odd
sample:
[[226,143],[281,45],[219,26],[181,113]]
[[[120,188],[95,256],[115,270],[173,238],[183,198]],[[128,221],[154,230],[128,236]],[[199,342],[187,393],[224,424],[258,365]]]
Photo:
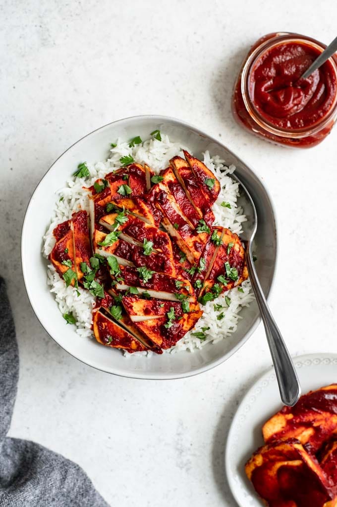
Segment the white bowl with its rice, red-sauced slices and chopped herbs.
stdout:
[[217,140],[148,116],[69,148],[37,186],[22,231],[27,293],[46,331],[83,362],[137,378],[194,375],[229,357],[259,322],[240,239],[251,218],[234,170],[258,208],[268,296],[272,204]]

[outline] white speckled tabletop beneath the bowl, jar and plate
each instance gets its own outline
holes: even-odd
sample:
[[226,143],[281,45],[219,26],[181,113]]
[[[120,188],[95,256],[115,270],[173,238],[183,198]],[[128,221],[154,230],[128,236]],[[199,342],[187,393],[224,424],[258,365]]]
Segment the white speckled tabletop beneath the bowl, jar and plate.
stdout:
[[137,114],[186,120],[220,137],[271,192],[280,255],[270,303],[291,353],[336,352],[337,129],[312,150],[277,148],[234,123],[230,97],[249,44],[279,29],[328,43],[337,4],[28,0],[2,3],[0,13],[0,273],[21,361],[10,434],[78,462],[112,505],[232,507],[224,444],[242,393],[271,363],[263,329],[227,363],[187,380],[92,370],[30,309],[21,224],[41,175],[82,135]]

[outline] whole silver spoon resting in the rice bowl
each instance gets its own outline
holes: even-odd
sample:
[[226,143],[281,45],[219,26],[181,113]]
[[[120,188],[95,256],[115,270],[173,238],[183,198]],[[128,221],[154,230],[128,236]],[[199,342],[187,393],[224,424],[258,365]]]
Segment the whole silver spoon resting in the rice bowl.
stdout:
[[[231,176],[234,177],[237,180],[237,182],[241,185],[247,197],[247,200],[245,202],[245,214],[247,216],[250,216],[252,220],[246,223],[247,225],[244,228],[242,239],[246,241],[245,256],[249,278],[264,323],[267,341],[273,359],[278,387],[280,390],[281,400],[284,403],[284,405],[292,407],[293,405],[296,404],[299,397],[301,396],[301,386],[296,370],[293,366],[291,357],[282,338],[282,335],[270,312],[269,306],[263,294],[259,278],[254,266],[252,256],[252,241],[254,240],[258,227],[258,217],[255,204],[252,201],[249,192],[247,191],[245,186],[241,183],[240,179],[236,176],[236,174],[232,174]],[[248,209],[249,207],[251,209]]]

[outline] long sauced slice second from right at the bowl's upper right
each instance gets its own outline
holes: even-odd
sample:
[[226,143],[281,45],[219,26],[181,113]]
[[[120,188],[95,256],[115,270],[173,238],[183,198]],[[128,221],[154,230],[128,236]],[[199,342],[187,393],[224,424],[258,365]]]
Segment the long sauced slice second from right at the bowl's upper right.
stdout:
[[202,191],[196,177],[194,176],[188,162],[181,157],[174,157],[170,164],[186,192],[186,196],[194,206],[195,210],[207,225],[212,225],[215,220],[214,213],[210,207],[208,194]]

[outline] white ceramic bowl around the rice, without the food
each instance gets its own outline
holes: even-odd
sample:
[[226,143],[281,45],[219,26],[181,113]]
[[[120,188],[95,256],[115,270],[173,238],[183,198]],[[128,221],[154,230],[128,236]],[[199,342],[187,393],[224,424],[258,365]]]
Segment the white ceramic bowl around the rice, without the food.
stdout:
[[237,174],[257,207],[257,270],[265,295],[268,296],[276,263],[276,227],[266,189],[254,172],[219,141],[182,121],[163,116],[138,116],[105,125],[77,141],[54,162],[28,204],[22,228],[21,260],[33,310],[47,333],[67,352],[83,363],[108,373],[133,378],[172,379],[204,372],[230,357],[259,324],[256,303],[252,302],[249,308],[242,309],[240,315],[243,318],[239,321],[237,331],[215,345],[207,344],[195,352],[124,357],[120,351],[103,347],[95,339],[81,338],[73,325],[66,324],[54,296],[49,292],[47,262],[41,255],[43,236],[57,199],[55,192],[64,186],[73,168],[82,160],[96,162],[106,159],[110,143],[116,137],[130,139],[140,135],[146,139],[155,129],[168,134],[172,140],[181,141],[196,156],[209,150],[211,155],[219,155],[226,163],[236,165]]

